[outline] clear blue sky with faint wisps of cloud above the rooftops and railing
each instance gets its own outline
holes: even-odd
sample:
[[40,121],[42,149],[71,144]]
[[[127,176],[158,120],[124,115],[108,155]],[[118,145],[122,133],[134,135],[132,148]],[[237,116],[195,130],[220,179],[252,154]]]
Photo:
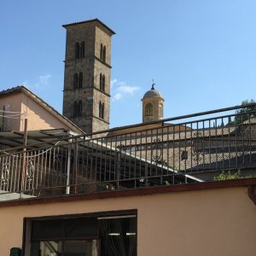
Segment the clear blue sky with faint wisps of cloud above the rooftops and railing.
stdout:
[[94,18],[116,32],[111,127],[142,122],[152,79],[165,118],[256,100],[255,0],[2,0],[0,90],[25,84],[62,112],[61,25]]

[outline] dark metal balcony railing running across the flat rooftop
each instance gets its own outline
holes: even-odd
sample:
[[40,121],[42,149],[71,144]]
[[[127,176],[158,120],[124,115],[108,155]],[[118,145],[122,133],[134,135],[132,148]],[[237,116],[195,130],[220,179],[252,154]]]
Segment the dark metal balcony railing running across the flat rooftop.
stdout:
[[0,201],[202,183],[238,171],[255,177],[255,167],[256,105],[249,104],[6,148]]

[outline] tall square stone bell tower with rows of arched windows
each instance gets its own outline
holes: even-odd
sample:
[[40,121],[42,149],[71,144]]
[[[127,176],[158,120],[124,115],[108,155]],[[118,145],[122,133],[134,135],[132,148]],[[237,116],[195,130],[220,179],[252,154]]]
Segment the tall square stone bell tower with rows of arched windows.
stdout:
[[87,134],[108,130],[114,32],[98,19],[63,27],[67,30],[63,115]]

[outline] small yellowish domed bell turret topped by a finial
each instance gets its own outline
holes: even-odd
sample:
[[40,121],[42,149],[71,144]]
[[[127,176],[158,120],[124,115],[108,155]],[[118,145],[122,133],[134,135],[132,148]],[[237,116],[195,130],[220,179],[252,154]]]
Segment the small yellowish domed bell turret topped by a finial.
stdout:
[[143,102],[143,123],[156,121],[164,118],[164,98],[158,90],[154,89],[154,83],[151,90],[148,90],[142,99]]

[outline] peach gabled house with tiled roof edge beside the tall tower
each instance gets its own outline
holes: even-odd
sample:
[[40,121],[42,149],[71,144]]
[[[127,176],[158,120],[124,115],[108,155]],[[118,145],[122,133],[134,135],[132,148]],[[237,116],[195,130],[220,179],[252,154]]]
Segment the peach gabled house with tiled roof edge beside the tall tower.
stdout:
[[25,86],[0,91],[0,131],[66,129],[76,134],[83,131],[58,113]]

